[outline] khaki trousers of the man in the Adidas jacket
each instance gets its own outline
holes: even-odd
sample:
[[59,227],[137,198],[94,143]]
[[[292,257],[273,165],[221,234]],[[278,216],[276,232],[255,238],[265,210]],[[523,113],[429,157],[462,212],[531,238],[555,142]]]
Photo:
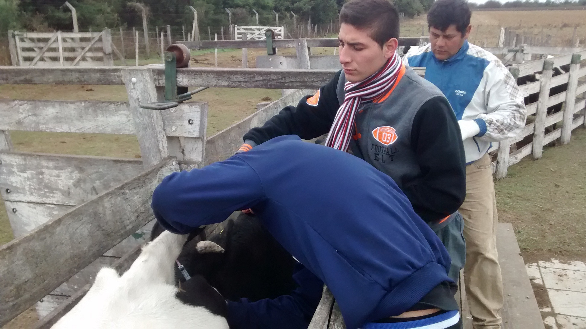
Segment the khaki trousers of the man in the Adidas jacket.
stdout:
[[459,211],[464,217],[464,280],[473,326],[500,328],[503,279],[496,252],[498,219],[488,154],[466,166],[466,199]]

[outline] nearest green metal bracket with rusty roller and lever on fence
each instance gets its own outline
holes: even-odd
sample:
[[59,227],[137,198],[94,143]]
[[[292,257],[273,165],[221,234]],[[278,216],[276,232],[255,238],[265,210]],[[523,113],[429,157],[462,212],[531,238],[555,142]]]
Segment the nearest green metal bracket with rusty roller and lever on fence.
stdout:
[[[191,54],[185,44],[177,43],[165,49],[165,101],[148,104],[140,104],[145,109],[169,109],[177,107],[180,103],[188,101],[197,92],[206,90],[208,87],[197,88],[187,91],[187,87],[177,87],[177,68],[188,67]],[[182,92],[178,95],[178,91]]]

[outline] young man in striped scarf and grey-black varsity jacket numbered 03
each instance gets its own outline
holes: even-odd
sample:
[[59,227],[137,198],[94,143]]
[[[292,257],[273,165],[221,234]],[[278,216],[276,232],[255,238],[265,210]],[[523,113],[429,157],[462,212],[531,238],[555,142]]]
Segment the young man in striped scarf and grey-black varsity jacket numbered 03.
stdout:
[[[387,0],[351,0],[340,11],[343,70],[297,107],[285,107],[244,135],[245,152],[281,135],[312,139],[347,151],[389,175],[464,267],[462,216],[466,170],[461,133],[442,92],[401,63],[399,18]],[[316,163],[316,165],[320,165]]]

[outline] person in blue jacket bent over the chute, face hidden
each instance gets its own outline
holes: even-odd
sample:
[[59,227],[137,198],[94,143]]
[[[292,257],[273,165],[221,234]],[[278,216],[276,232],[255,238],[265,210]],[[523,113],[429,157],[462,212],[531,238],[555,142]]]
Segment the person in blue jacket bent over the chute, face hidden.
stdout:
[[279,136],[172,173],[152,197],[156,219],[176,234],[248,208],[328,286],[348,329],[461,327],[448,252],[397,184],[364,160]]

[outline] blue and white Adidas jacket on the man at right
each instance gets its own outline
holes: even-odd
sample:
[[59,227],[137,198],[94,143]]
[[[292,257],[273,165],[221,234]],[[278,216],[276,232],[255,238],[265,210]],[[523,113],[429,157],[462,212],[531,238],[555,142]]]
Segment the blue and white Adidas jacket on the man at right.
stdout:
[[454,56],[438,60],[431,44],[409,52],[404,63],[425,67],[425,80],[448,98],[458,120],[475,121],[480,133],[464,140],[466,163],[480,159],[492,142],[512,138],[525,125],[523,94],[509,70],[492,53],[468,41]]

